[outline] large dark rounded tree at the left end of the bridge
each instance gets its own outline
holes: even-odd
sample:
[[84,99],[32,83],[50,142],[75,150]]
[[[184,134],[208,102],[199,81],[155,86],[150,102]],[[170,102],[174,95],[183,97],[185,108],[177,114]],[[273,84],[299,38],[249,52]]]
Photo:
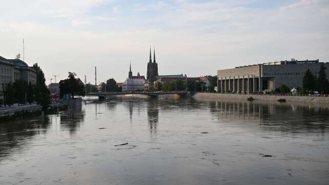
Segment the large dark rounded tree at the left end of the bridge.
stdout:
[[76,74],[69,72],[68,79],[59,82],[59,96],[63,98],[64,95],[70,94],[72,98],[74,95],[85,96],[84,84],[75,78]]

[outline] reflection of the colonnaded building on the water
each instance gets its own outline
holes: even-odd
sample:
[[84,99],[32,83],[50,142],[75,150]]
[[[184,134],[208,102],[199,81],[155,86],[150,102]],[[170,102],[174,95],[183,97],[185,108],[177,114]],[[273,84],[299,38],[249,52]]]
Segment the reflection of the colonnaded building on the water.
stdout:
[[264,130],[282,132],[324,133],[329,122],[327,106],[217,101],[210,111],[219,122],[257,123]]

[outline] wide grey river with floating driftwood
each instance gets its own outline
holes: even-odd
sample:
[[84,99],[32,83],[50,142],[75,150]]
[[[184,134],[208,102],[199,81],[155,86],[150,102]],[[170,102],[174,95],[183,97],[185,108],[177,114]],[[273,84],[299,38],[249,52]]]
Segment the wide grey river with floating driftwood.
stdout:
[[0,123],[0,184],[328,184],[328,131],[327,106],[87,99]]

